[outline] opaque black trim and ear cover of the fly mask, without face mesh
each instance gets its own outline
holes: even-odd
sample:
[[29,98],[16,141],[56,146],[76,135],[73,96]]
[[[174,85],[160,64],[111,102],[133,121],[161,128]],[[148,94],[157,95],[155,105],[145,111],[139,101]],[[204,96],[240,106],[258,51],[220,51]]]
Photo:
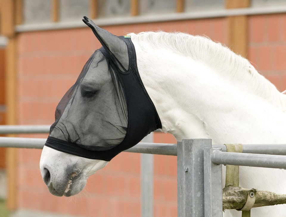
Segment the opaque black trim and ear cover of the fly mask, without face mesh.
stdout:
[[[51,136],[48,137],[45,145],[58,151],[89,159],[110,161],[120,152],[136,145],[150,132],[161,128],[162,125],[156,108],[140,78],[137,69],[135,47],[131,39],[117,37],[96,26],[87,17],[84,17],[83,22],[92,29],[102,44],[100,51],[109,60],[122,86],[128,110],[127,132],[124,140],[109,150],[102,150],[100,149],[102,147],[99,147],[99,151],[92,151],[83,148],[82,145],[77,145],[76,142],[61,140]],[[116,46],[121,46],[121,48],[116,49]],[[118,52],[122,50],[126,52]],[[50,134],[56,124],[57,120],[52,125]]]

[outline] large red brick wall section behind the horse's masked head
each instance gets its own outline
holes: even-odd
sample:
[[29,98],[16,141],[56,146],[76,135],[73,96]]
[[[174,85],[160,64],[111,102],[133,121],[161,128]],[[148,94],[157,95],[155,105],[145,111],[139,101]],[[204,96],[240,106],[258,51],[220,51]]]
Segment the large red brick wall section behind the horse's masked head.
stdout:
[[[148,30],[205,34],[227,43],[226,19],[108,26],[116,35]],[[57,103],[75,82],[88,57],[99,48],[89,28],[19,34],[19,124],[51,124]],[[31,136],[31,135],[29,135]],[[45,134],[33,137],[47,137]],[[155,133],[154,142],[175,143]],[[80,216],[140,216],[140,155],[121,153],[88,179],[86,190],[71,198],[49,193],[39,171],[40,150],[19,149],[19,209]],[[176,157],[154,156],[154,216],[177,215]]]

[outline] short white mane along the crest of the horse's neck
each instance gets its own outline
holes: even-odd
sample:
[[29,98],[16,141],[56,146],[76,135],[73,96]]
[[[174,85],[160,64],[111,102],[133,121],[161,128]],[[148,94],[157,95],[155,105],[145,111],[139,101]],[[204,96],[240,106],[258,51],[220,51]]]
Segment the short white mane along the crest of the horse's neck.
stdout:
[[154,49],[168,49],[200,61],[215,69],[220,75],[231,79],[232,82],[242,84],[250,93],[262,97],[279,110],[286,112],[286,95],[280,93],[270,81],[260,75],[247,59],[235,54],[221,43],[213,42],[207,37],[181,32],[150,31],[130,35],[133,41],[149,43]]

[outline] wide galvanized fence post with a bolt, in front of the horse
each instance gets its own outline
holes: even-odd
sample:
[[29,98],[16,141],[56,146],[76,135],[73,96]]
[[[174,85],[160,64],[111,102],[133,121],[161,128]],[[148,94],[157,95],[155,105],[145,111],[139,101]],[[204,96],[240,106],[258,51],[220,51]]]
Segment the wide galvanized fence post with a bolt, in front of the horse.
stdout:
[[178,142],[178,217],[204,216],[203,148],[211,147],[211,139]]

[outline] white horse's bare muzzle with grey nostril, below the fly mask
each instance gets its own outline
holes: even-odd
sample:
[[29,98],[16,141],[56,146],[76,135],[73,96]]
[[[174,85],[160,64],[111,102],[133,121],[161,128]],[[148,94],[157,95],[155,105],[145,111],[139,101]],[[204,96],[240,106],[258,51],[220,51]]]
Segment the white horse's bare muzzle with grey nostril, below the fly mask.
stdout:
[[107,163],[108,161],[87,159],[44,146],[40,170],[51,194],[69,197],[82,191],[88,176]]

